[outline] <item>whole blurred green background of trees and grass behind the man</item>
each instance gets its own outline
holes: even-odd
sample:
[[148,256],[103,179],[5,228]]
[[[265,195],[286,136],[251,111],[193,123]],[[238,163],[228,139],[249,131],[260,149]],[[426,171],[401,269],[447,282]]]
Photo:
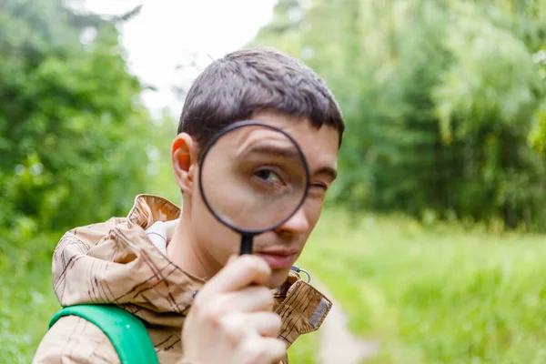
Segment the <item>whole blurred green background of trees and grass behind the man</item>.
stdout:
[[[58,308],[66,229],[125,216],[138,193],[180,201],[176,117],[147,109],[119,41],[138,8],[63,4],[0,4],[6,363],[30,362]],[[339,98],[339,180],[301,265],[379,339],[367,362],[546,362],[546,1],[278,0],[250,45],[298,57]]]

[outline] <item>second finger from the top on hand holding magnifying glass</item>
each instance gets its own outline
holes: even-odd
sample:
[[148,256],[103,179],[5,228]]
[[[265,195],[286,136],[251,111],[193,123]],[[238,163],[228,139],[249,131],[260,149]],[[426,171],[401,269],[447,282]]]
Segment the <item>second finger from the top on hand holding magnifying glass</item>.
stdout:
[[223,308],[226,311],[271,311],[273,293],[264,286],[248,286],[224,296]]

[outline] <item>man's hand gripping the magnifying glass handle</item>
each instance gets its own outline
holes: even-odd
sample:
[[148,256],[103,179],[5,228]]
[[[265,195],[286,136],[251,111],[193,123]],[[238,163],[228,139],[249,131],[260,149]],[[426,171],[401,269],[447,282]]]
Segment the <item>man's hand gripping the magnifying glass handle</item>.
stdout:
[[195,364],[271,364],[286,355],[277,339],[280,317],[263,286],[271,269],[262,258],[231,258],[197,294],[182,330],[184,358]]

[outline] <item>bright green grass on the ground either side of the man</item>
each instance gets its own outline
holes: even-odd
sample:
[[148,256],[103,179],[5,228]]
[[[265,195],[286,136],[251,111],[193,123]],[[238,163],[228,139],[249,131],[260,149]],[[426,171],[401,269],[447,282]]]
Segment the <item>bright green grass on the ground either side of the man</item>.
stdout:
[[[30,362],[58,308],[44,247],[59,236],[0,253],[0,361]],[[544,257],[541,236],[329,209],[298,264],[329,287],[349,329],[379,339],[368,363],[534,364],[546,362]],[[318,348],[317,333],[304,335],[290,361],[316,362]]]

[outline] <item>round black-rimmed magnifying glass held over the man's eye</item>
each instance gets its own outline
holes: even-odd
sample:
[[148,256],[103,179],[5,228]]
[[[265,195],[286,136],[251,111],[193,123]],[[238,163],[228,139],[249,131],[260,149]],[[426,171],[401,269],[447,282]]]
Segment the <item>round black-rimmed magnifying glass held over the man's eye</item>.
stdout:
[[208,210],[241,235],[240,254],[255,236],[292,217],[308,194],[308,164],[292,136],[276,126],[241,121],[205,147],[199,190]]

